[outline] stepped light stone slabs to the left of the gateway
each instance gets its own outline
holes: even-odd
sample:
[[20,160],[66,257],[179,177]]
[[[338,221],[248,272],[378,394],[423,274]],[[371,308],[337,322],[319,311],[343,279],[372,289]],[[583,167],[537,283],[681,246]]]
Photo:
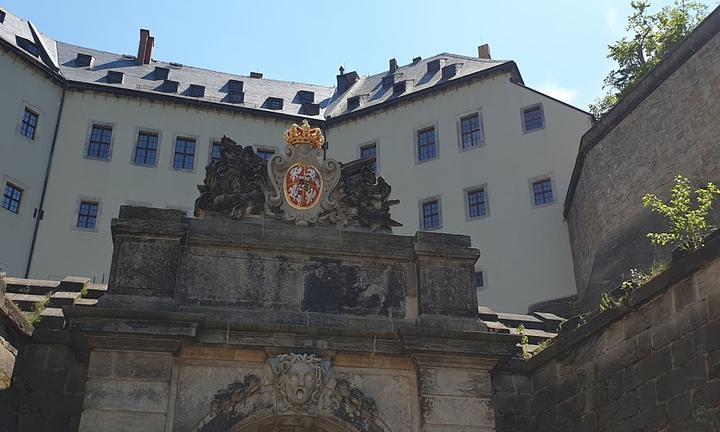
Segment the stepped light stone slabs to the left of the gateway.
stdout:
[[8,300],[15,303],[36,328],[63,328],[62,307],[92,306],[107,291],[107,284],[66,277],[61,281],[5,277]]

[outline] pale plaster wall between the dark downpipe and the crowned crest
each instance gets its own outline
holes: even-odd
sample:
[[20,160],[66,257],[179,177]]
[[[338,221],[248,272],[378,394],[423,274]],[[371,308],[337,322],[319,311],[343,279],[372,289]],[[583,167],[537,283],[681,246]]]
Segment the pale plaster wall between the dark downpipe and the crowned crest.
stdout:
[[[92,122],[113,124],[110,161],[84,157]],[[268,118],[95,92],[68,92],[32,275],[87,276],[98,282],[104,277],[107,281],[112,257],[110,221],[117,217],[122,204],[180,208],[192,215],[211,140],[225,134],[241,145],[280,148],[287,126],[287,122]],[[156,167],[132,163],[140,128],[160,131]],[[178,135],[196,138],[193,172],[172,169]],[[100,201],[96,232],[75,228],[81,199]]]

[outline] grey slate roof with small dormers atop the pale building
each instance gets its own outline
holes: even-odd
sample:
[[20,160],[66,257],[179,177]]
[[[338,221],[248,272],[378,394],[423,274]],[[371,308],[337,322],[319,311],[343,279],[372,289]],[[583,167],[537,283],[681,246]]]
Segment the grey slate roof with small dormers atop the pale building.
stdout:
[[[509,66],[515,73],[516,80],[522,82],[517,67],[512,61],[443,53],[425,60],[418,58],[413,63],[400,66],[392,73],[385,71],[361,77],[347,91],[339,94],[335,87],[254,78],[155,60],[147,65],[140,64],[133,56],[123,56],[55,41],[37,30],[33,31],[33,26],[29,21],[5,12],[5,20],[0,23],[0,40],[51,73],[56,73],[58,78],[66,81],[69,85],[89,86],[112,92],[142,92],[149,96],[170,97],[178,102],[219,104],[228,108],[235,107],[241,110],[249,109],[322,121],[329,118],[354,116],[366,110],[370,111],[386,104],[396,103],[409,96],[418,96],[421,92],[433,88],[440,89],[450,83],[501,65]],[[23,47],[22,39],[30,41],[38,47],[40,53],[35,55],[29,52],[26,49],[26,43],[25,48]],[[93,65],[78,65],[76,58],[79,53],[94,57]],[[432,62],[435,62],[434,64],[439,68],[428,73],[428,64]],[[156,68],[167,69],[168,76],[165,78],[161,76],[162,74],[155,74]],[[449,76],[447,72],[451,69],[454,69],[454,73]],[[109,72],[112,72],[111,75],[117,78],[116,82],[112,82],[112,80],[108,82]],[[119,75],[118,72],[122,75]],[[165,83],[165,79],[171,82]],[[229,80],[242,81],[242,102],[228,96]],[[389,83],[390,81],[392,83]],[[383,85],[383,82],[386,85]],[[394,84],[401,82],[404,84],[397,88],[394,87]],[[175,85],[177,85],[176,91],[167,91]],[[193,94],[191,86],[202,86],[204,89],[194,87],[193,90],[198,93]],[[403,86],[404,89],[400,91],[400,87]],[[311,103],[301,101],[299,92],[303,91],[314,93],[314,100]],[[358,97],[360,104],[358,107],[348,109],[347,100],[353,97]],[[283,100],[282,107],[273,109],[273,106],[268,103],[270,98],[281,98]]]

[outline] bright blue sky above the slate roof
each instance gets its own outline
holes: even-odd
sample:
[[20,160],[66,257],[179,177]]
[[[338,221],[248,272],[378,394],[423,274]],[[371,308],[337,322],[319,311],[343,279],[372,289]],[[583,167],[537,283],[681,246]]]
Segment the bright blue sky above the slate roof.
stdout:
[[[652,1],[653,10],[671,1]],[[64,42],[225,72],[334,85],[338,66],[361,75],[441,52],[515,60],[525,83],[587,108],[612,68],[630,0],[133,1],[5,0],[1,6]]]

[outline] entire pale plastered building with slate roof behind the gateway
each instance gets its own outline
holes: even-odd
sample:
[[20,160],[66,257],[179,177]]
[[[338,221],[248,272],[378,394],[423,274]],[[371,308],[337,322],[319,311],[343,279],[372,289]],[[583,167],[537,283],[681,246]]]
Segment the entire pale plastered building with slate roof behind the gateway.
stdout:
[[2,21],[0,271],[106,279],[121,205],[191,215],[222,135],[268,156],[307,118],[329,157],[376,156],[400,200],[396,233],[472,237],[481,304],[520,311],[576,292],[561,197],[591,116],[486,48],[341,72],[331,88],[155,61],[148,32],[121,56]]

